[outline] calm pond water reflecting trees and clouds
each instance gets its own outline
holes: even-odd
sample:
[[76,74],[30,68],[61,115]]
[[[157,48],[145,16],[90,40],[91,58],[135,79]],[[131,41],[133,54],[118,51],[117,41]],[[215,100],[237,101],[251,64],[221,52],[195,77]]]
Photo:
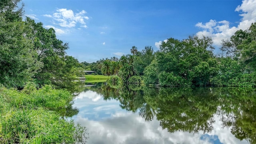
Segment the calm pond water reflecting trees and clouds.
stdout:
[[255,144],[256,89],[76,89],[75,122],[88,144]]

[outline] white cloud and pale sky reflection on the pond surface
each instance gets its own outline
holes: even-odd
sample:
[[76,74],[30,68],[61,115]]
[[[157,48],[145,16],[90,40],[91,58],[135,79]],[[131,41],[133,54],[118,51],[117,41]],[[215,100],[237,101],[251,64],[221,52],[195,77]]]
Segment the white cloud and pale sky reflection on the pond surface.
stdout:
[[75,99],[74,107],[80,112],[73,118],[86,126],[88,144],[248,144],[235,138],[230,128],[222,128],[216,114],[210,133],[170,133],[162,129],[156,118],[146,122],[139,114],[123,110],[119,105],[119,101],[103,100],[100,94],[90,90]]

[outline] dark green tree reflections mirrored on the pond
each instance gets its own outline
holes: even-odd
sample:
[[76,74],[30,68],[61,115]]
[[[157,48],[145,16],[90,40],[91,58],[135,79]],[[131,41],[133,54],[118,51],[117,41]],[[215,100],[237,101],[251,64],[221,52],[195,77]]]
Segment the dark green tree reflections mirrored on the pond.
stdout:
[[214,116],[223,128],[240,140],[256,143],[256,92],[254,88],[149,88],[109,86],[83,87],[118,100],[122,109],[138,112],[146,121],[156,118],[168,132],[210,133]]

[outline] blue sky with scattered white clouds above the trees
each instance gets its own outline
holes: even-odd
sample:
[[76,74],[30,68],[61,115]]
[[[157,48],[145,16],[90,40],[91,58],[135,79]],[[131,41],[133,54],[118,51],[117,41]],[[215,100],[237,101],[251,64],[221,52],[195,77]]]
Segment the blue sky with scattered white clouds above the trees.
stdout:
[[130,54],[168,38],[221,40],[256,22],[256,0],[23,0],[25,16],[54,28],[79,62]]

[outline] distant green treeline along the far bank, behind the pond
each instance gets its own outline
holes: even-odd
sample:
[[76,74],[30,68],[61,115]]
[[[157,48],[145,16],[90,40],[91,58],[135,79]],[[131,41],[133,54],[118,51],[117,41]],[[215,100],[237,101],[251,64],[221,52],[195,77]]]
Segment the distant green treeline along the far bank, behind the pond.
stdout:
[[[212,38],[189,36],[184,40],[169,38],[160,49],[146,46],[118,58],[106,58],[87,68],[105,75],[117,75],[124,83],[184,86],[256,86],[256,23],[238,30],[229,40],[222,40],[222,54],[214,54]],[[131,79],[132,78],[132,79]]]

